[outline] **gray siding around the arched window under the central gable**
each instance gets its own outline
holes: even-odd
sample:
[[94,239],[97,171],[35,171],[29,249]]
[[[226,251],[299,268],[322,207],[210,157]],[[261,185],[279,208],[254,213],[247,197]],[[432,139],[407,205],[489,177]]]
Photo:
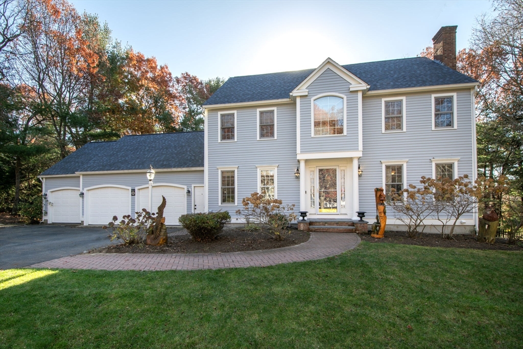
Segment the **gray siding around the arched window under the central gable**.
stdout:
[[[358,150],[358,93],[349,92],[350,83],[330,69],[309,85],[309,95],[300,98],[300,148],[302,153]],[[311,99],[323,93],[347,96],[346,136],[312,137]]]

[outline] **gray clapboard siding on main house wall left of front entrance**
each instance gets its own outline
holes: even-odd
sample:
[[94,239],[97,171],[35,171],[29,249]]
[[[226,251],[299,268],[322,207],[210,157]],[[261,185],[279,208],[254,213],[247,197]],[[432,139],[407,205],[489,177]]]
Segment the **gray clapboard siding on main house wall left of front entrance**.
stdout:
[[[264,106],[271,107],[270,105]],[[283,204],[299,206],[299,180],[294,178],[296,160],[296,107],[294,104],[277,105],[277,139],[261,140],[256,137],[256,108],[238,108],[236,142],[218,142],[218,111],[208,114],[209,141],[209,210],[228,210],[232,217],[242,208],[242,198],[258,190],[257,165],[278,165],[278,198]],[[227,110],[233,110],[227,109]],[[218,168],[238,166],[237,206],[219,206]],[[297,207],[298,209],[298,207]],[[235,220],[233,219],[233,222]]]

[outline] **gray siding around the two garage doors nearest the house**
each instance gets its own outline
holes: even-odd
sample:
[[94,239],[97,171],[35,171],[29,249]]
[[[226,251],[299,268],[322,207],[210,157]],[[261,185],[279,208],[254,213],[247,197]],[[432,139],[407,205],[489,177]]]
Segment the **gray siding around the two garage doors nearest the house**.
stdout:
[[[193,184],[203,185],[203,171],[187,171],[187,172],[156,172],[154,176],[154,183],[169,183],[185,185],[191,188]],[[95,174],[83,175],[83,190],[85,188],[93,187],[95,185],[116,184],[131,188],[140,187],[149,184],[144,173],[121,173],[121,174]],[[192,190],[192,188],[191,188]],[[138,193],[137,193],[138,195]],[[137,211],[135,207],[135,196],[131,197],[131,211]],[[85,205],[84,205],[85,206]],[[140,209],[140,208],[139,208]],[[191,210],[191,197],[187,197],[187,212]],[[84,215],[84,211],[82,211]]]

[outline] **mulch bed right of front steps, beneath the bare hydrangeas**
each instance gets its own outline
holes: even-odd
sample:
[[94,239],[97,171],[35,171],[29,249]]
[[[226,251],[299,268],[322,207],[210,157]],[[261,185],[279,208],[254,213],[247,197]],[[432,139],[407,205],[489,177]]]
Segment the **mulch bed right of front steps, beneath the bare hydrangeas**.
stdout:
[[504,250],[504,251],[521,251],[523,250],[523,241],[516,244],[508,244],[507,239],[496,238],[496,243],[488,244],[476,240],[475,235],[454,234],[453,239],[444,239],[441,234],[423,234],[418,239],[408,238],[403,231],[385,231],[383,239],[376,239],[368,234],[359,234],[362,241],[372,243],[397,243],[405,245],[417,245],[428,247],[455,247],[457,249],[475,249],[475,250]]

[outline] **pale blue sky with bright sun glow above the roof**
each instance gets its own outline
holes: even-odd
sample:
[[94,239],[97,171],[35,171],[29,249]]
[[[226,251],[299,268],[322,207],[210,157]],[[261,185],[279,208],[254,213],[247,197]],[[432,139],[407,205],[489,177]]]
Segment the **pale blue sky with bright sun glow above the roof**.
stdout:
[[488,1],[70,0],[113,38],[201,79],[415,57],[442,26],[468,48]]

